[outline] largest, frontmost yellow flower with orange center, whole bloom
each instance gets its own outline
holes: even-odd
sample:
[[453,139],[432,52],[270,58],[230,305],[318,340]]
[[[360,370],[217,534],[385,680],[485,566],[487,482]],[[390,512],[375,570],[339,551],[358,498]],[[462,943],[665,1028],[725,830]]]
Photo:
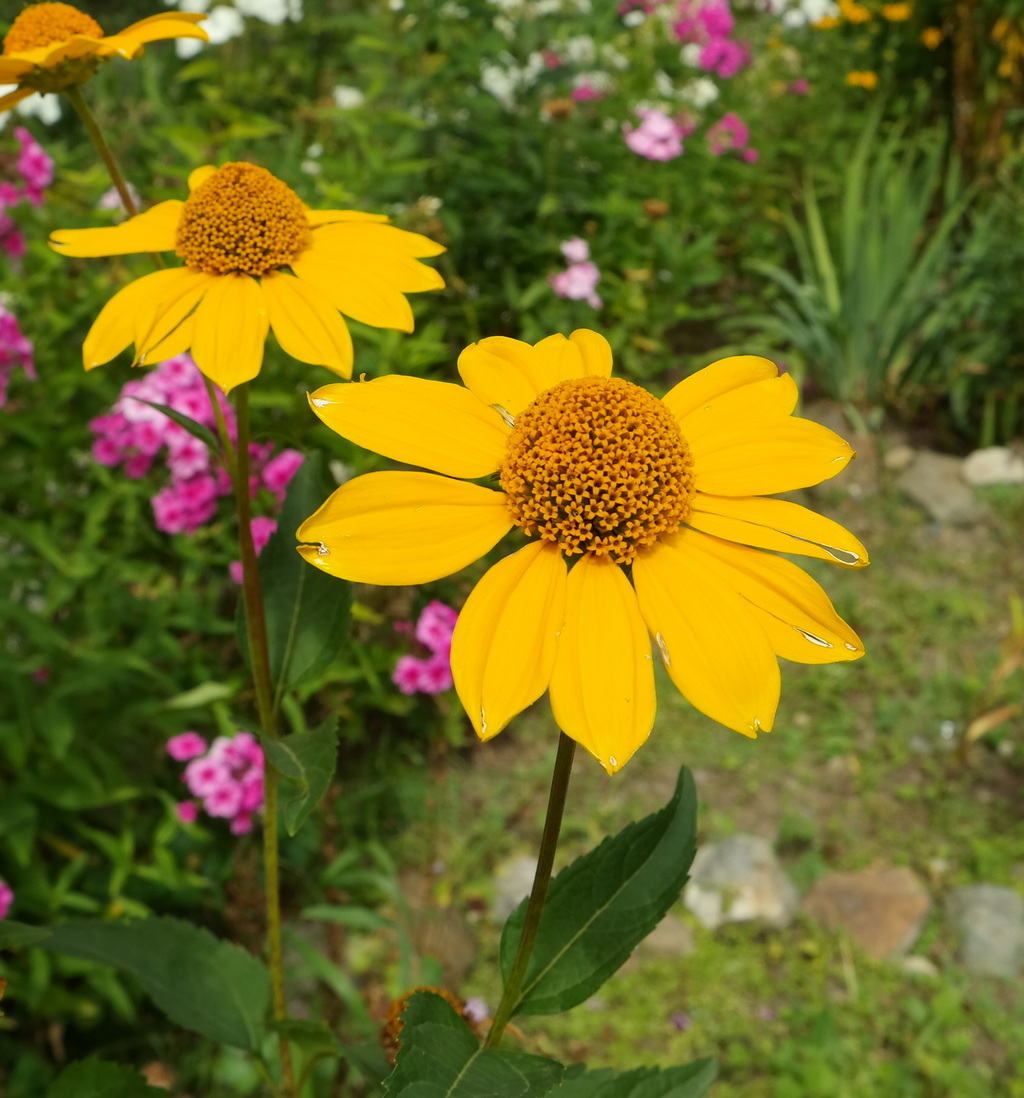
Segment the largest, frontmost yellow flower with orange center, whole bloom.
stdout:
[[[752,737],[775,718],[776,657],[863,656],[819,584],[759,551],[868,562],[839,524],[762,498],[854,456],[791,415],[797,386],[774,363],[722,359],[657,400],[612,378],[608,343],[584,329],[533,347],[482,339],[459,372],[464,389],[385,377],[312,395],[333,430],[435,473],[342,484],[299,551],[348,580],[426,583],[520,527],[527,545],[484,574],[452,640],[481,738],[547,690],[559,726],[614,773],[654,720],[651,637],[698,709]],[[452,479],[495,473],[500,491]]]

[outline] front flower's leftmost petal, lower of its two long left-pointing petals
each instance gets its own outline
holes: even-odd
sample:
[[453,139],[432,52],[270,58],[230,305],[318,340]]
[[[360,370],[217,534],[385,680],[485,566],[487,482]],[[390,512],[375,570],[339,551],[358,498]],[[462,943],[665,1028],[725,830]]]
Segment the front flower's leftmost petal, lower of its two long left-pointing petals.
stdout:
[[434,473],[367,473],[299,527],[299,551],[355,583],[429,583],[479,560],[508,533],[505,495]]

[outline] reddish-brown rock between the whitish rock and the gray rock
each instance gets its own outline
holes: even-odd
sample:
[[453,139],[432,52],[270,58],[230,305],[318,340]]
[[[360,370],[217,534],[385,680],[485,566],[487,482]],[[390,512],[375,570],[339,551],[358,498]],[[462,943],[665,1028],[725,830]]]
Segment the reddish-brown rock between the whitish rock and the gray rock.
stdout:
[[924,885],[902,866],[826,873],[803,900],[812,919],[845,930],[878,960],[902,956],[913,946],[931,906]]

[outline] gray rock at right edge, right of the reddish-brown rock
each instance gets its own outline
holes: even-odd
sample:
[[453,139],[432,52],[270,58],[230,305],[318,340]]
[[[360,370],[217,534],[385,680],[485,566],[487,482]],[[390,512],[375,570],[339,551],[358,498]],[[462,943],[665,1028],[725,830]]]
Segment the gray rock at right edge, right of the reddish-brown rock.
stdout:
[[1024,899],[1000,885],[954,888],[947,901],[960,937],[958,959],[979,976],[1014,977],[1024,971]]

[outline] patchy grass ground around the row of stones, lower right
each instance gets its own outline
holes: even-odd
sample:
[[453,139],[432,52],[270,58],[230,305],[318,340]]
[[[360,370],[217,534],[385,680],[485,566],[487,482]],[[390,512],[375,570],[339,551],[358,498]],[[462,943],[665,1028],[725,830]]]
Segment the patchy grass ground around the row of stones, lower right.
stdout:
[[[1024,1002],[1010,985],[957,966],[942,915],[956,885],[1024,888],[1024,720],[966,758],[956,750],[986,702],[1010,597],[1024,594],[1014,548],[1022,493],[988,502],[988,523],[956,530],[890,490],[819,496],[814,505],[871,551],[873,565],[857,572],[809,567],[862,634],[867,658],[787,665],[776,730],[758,741],[713,725],[661,681],[651,740],[621,774],[609,780],[577,761],[560,851],[564,864],[659,808],[685,763],[697,778],[701,841],[766,836],[801,890],[825,872],[910,866],[934,899],[914,952],[937,975],[871,961],[803,917],[780,932],[711,933],[680,904],[693,953],[653,957],[641,946],[588,1004],[520,1019],[529,1042],[595,1067],[714,1055],[719,1093],[730,1098],[1024,1096]],[[1019,695],[1020,680],[1019,671],[987,701]],[[492,1005],[498,931],[480,912],[495,867],[536,849],[554,738],[541,703],[497,740],[448,758],[421,821],[430,826],[403,840],[406,864],[440,867],[435,901],[474,925],[477,962],[458,990]],[[676,1013],[687,1017],[685,1031]]]

